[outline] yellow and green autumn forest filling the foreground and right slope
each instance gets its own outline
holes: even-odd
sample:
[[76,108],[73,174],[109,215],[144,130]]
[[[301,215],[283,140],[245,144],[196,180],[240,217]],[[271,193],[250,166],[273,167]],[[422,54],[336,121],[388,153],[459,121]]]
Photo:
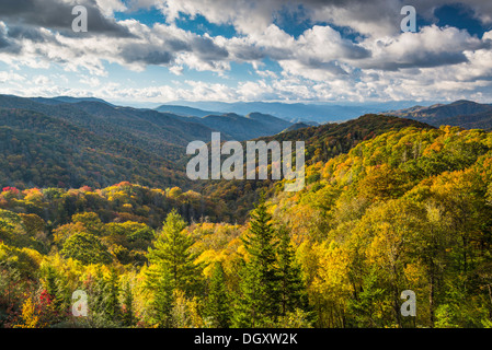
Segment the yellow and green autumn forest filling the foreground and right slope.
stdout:
[[492,135],[310,129],[305,189],[256,186],[244,223],[222,186],[3,188],[1,326],[492,327]]

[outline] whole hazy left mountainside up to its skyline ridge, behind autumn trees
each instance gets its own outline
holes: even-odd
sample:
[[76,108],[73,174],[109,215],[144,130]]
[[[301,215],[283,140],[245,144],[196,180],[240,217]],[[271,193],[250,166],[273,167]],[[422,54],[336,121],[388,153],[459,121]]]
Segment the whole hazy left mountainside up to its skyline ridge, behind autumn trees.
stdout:
[[119,182],[193,189],[186,145],[247,140],[290,122],[266,115],[182,117],[89,98],[0,95],[0,187],[103,188]]

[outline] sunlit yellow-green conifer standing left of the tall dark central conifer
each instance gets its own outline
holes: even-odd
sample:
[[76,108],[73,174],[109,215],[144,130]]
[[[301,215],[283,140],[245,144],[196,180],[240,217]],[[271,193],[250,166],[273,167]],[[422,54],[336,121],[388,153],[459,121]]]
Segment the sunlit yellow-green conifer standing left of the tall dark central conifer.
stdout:
[[165,269],[171,276],[173,290],[181,290],[186,295],[196,293],[199,270],[194,265],[195,256],[190,252],[192,237],[184,231],[186,222],[175,211],[165,219],[155,248],[149,248],[149,261],[155,267]]

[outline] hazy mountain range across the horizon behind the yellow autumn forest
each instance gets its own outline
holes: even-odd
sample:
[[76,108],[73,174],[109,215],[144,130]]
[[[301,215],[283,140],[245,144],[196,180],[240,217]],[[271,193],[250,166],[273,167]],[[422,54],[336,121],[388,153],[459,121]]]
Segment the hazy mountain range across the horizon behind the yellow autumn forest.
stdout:
[[[201,110],[190,107],[159,110],[98,98],[0,95],[0,185],[101,188],[128,180],[160,188],[202,188],[185,176],[186,145],[195,140],[209,142],[215,131],[221,132],[222,140],[302,140],[307,161],[318,162],[381,132],[409,126],[492,128],[492,106],[469,101],[321,126],[293,124],[259,112],[240,115],[201,109],[199,116]],[[228,196],[228,190],[221,192]]]

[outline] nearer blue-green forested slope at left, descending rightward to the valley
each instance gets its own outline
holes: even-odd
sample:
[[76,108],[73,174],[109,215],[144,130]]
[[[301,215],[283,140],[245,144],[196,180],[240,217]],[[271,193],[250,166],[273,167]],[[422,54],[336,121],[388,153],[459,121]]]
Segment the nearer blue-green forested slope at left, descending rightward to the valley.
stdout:
[[122,178],[153,187],[187,182],[163,154],[24,109],[0,109],[0,151],[3,187],[101,188]]

